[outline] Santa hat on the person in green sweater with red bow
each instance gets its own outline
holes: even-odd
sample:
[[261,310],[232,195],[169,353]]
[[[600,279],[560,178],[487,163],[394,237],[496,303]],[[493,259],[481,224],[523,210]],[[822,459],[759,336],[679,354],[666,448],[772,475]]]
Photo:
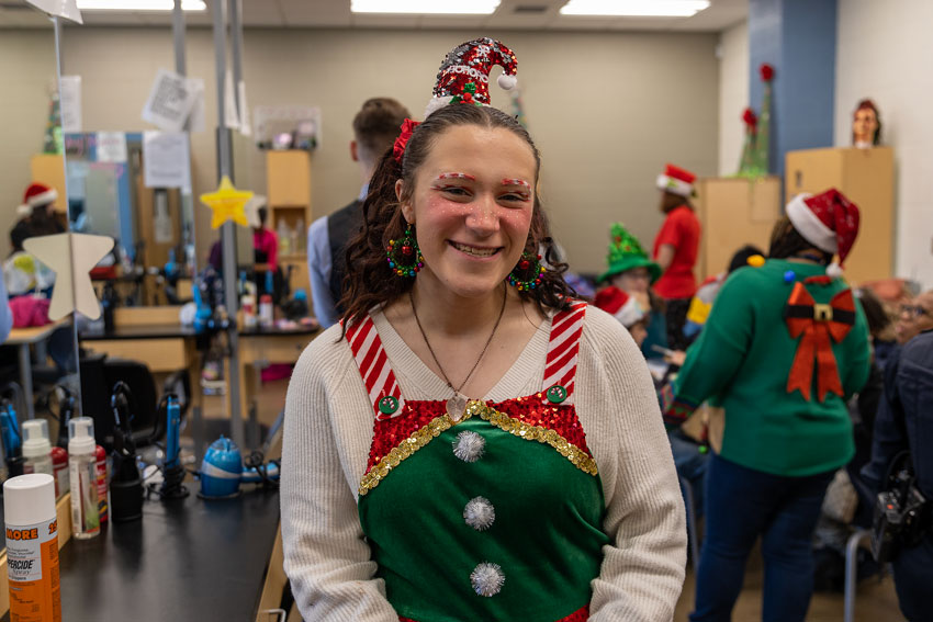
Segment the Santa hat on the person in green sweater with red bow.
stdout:
[[822,194],[798,194],[787,204],[787,217],[797,233],[814,247],[839,255],[827,268],[830,276],[842,274],[842,263],[858,235],[858,206],[834,188]]

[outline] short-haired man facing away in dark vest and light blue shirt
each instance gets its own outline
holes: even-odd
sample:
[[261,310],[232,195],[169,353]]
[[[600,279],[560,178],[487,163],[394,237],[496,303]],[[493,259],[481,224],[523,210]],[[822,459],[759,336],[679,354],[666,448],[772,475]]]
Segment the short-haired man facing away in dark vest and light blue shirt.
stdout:
[[307,268],[314,315],[323,328],[335,324],[345,309],[347,242],[362,227],[362,202],[375,166],[398,136],[408,110],[392,98],[371,98],[353,117],[350,158],[359,165],[362,188],[349,205],[316,219],[307,229]]

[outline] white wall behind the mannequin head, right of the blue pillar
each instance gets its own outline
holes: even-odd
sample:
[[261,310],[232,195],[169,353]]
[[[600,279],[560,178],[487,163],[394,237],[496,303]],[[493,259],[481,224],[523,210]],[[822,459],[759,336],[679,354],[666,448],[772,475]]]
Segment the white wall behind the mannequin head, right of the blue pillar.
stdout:
[[835,145],[851,145],[855,105],[872,98],[881,113],[883,143],[895,148],[897,275],[925,290],[933,287],[931,23],[929,0],[840,2],[835,71]]

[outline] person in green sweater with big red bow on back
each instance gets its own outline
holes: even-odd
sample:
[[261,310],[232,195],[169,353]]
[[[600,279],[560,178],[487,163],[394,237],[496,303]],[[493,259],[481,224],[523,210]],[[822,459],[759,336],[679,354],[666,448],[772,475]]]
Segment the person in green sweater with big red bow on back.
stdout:
[[667,422],[707,399],[726,411],[708,473],[694,622],[730,620],[758,535],[763,619],[805,619],[822,498],[854,451],[846,399],[869,371],[864,313],[839,264],[828,265],[833,253],[845,259],[857,231],[858,208],[836,190],[795,197],[767,261],[726,281],[664,392]]

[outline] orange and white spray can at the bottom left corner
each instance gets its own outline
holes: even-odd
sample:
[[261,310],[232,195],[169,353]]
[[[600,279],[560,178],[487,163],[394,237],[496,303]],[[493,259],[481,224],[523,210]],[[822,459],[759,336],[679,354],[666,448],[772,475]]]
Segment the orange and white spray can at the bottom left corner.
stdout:
[[61,622],[55,482],[47,473],[3,484],[10,619]]

